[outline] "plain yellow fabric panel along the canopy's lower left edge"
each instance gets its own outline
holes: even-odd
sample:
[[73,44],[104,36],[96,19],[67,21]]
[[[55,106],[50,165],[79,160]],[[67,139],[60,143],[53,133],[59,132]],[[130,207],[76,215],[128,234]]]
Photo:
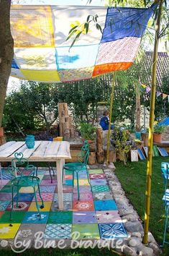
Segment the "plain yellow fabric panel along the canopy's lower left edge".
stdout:
[[57,70],[26,70],[20,69],[26,77],[26,80],[41,81],[41,82],[60,82],[60,77]]

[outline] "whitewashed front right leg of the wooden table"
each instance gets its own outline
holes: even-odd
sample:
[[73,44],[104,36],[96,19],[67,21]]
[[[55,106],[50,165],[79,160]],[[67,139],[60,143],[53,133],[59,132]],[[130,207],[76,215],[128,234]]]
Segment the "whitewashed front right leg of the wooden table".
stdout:
[[57,168],[57,181],[58,181],[58,208],[63,210],[63,181],[62,181],[62,171],[63,171],[63,162],[58,159],[56,162]]

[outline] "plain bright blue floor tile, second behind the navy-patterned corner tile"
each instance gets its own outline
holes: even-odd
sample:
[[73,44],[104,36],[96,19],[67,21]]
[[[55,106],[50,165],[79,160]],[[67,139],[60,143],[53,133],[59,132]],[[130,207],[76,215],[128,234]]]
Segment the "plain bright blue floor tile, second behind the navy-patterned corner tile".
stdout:
[[117,205],[114,200],[98,200],[94,201],[95,210],[117,210]]

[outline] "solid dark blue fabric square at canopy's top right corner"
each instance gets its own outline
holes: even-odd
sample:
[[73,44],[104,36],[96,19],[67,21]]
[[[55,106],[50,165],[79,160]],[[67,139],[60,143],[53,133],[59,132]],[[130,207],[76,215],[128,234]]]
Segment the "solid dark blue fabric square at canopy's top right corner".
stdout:
[[109,7],[101,43],[129,36],[141,38],[156,6],[148,9]]

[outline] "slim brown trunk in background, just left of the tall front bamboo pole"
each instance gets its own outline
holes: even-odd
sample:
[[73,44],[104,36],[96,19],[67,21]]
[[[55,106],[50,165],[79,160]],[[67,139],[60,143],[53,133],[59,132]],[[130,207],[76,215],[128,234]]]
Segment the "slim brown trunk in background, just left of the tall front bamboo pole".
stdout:
[[136,132],[140,132],[141,103],[140,103],[140,90],[138,88],[138,85],[135,85],[135,93],[136,93],[135,130]]

